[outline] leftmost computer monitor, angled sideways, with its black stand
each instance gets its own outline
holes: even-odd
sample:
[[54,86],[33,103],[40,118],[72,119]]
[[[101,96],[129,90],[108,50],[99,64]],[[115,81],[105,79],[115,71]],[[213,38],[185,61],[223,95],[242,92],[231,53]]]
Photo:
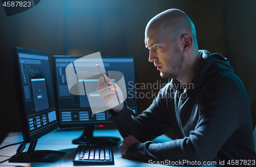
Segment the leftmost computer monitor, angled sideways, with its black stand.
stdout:
[[10,162],[52,162],[65,152],[35,150],[37,139],[58,128],[48,52],[13,48],[17,103],[27,152]]

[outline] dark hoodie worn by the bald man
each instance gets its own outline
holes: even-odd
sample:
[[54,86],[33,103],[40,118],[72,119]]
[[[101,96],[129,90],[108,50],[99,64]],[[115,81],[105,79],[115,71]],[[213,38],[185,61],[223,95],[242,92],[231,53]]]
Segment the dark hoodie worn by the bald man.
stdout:
[[[250,166],[256,165],[243,82],[226,58],[206,50],[200,55],[204,62],[191,84],[183,86],[172,79],[140,115],[132,116],[126,103],[118,115],[112,114],[123,137],[133,135],[140,141],[127,150],[127,158],[180,162],[177,165],[208,161],[216,162],[216,166],[223,166],[223,161],[225,166],[238,161],[240,166],[249,161]],[[178,139],[162,144],[150,141],[170,128]]]

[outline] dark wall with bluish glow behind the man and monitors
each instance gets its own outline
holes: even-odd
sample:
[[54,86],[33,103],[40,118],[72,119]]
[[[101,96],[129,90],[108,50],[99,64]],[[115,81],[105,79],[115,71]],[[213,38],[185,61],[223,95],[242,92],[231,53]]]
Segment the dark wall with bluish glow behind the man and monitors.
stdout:
[[[166,83],[154,64],[147,61],[144,29],[152,17],[170,8],[183,10],[194,21],[199,49],[228,58],[245,84],[255,126],[256,2],[241,2],[44,0],[9,17],[0,7],[0,142],[18,123],[12,46],[47,51],[50,55],[86,56],[100,52],[102,57],[135,56],[138,83]],[[139,111],[151,102],[152,99],[138,99]]]

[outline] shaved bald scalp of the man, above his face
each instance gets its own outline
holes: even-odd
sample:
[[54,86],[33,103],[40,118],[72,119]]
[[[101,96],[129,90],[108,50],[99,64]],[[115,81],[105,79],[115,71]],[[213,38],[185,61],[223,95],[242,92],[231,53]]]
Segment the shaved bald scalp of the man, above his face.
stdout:
[[163,32],[175,43],[182,35],[190,34],[193,37],[194,48],[198,50],[194,23],[181,10],[169,9],[159,13],[147,23],[145,36],[148,31]]

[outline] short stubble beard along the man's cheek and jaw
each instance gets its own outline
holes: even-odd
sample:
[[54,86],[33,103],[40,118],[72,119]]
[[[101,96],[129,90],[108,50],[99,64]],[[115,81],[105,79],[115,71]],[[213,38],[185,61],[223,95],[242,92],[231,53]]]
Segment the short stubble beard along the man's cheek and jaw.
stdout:
[[160,72],[160,76],[162,78],[173,79],[173,78],[177,78],[180,74],[180,71],[184,62],[184,54],[181,52],[181,50],[179,50],[177,46],[175,46],[173,55],[174,55],[173,60],[169,61],[167,64],[168,73],[164,75],[162,71]]

